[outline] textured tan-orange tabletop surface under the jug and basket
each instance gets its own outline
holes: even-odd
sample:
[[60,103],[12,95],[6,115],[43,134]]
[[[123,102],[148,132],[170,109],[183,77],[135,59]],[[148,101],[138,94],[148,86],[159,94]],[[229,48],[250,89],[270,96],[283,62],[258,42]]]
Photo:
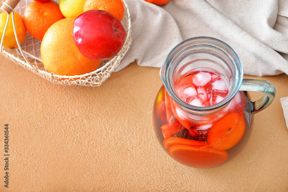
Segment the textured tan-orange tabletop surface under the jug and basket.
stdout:
[[4,189],[0,158],[0,191],[287,191],[280,98],[288,96],[288,78],[282,77],[263,77],[276,85],[276,100],[255,115],[238,157],[197,169],[173,160],[155,136],[159,68],[133,63],[100,87],[67,87],[0,55],[0,155],[4,124],[10,131],[10,183]]

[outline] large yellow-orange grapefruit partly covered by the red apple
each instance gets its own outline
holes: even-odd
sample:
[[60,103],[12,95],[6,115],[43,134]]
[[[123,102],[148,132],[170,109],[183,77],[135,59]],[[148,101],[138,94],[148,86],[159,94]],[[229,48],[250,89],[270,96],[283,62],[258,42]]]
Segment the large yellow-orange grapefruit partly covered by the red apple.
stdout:
[[95,71],[101,61],[84,57],[73,41],[73,21],[66,18],[54,23],[41,42],[41,58],[48,72],[56,75],[82,75]]

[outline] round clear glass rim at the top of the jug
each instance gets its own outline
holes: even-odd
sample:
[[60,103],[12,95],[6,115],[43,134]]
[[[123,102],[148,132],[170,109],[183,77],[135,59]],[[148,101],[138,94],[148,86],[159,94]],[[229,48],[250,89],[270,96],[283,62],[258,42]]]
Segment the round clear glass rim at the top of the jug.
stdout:
[[[194,43],[193,45],[189,45],[188,47],[183,47],[186,44],[191,44]],[[218,45],[221,45],[223,47],[218,47]],[[229,56],[230,60],[232,61],[235,73],[233,74],[233,78],[235,78],[236,80],[234,81],[234,84],[231,85],[232,90],[228,92],[228,95],[225,97],[225,99],[223,99],[223,101],[215,104],[215,105],[211,105],[208,107],[196,107],[193,105],[190,105],[188,103],[186,103],[185,101],[183,101],[176,93],[175,89],[174,89],[174,85],[173,85],[173,79],[169,78],[169,74],[171,72],[171,67],[173,62],[175,61],[175,59],[177,58],[177,56],[179,56],[181,54],[182,51],[187,50],[189,48],[192,47],[198,47],[198,46],[209,46],[209,47],[213,47],[216,48],[220,51],[222,51],[223,53],[225,53],[226,55]],[[179,48],[183,47],[183,49],[179,50]],[[224,49],[223,49],[224,48]],[[227,53],[227,51],[230,52],[230,54]],[[178,52],[178,53],[177,53]],[[177,53],[175,55],[175,53]],[[219,40],[219,39],[215,39],[213,37],[193,37],[190,39],[187,39],[185,41],[182,41],[181,43],[179,43],[178,45],[176,45],[167,55],[164,63],[162,64],[162,67],[160,69],[160,78],[163,82],[163,85],[167,91],[167,93],[170,95],[170,97],[176,101],[180,106],[183,106],[187,109],[193,110],[193,111],[210,111],[210,110],[215,110],[215,109],[220,109],[222,106],[227,105],[232,99],[233,97],[237,94],[237,92],[239,91],[241,84],[242,84],[242,80],[243,80],[243,67],[242,67],[242,63],[240,61],[239,56],[237,55],[237,53],[234,51],[234,49],[232,49],[232,47],[230,47],[228,44],[226,44],[225,42]]]

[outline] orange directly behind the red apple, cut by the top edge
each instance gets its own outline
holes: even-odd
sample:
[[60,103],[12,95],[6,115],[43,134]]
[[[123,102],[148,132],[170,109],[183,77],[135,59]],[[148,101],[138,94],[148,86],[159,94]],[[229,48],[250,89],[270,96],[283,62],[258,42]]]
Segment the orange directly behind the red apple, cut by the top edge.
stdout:
[[85,0],[83,11],[85,12],[91,9],[107,11],[120,21],[124,15],[124,5],[121,0]]

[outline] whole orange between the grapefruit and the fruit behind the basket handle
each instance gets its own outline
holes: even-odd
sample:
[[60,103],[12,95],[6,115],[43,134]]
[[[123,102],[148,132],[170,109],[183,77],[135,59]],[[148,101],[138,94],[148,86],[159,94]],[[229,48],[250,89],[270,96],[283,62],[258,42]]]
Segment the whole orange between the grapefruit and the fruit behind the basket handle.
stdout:
[[45,32],[53,23],[64,18],[58,4],[54,1],[33,1],[25,8],[23,15],[28,32],[40,40],[43,39]]

